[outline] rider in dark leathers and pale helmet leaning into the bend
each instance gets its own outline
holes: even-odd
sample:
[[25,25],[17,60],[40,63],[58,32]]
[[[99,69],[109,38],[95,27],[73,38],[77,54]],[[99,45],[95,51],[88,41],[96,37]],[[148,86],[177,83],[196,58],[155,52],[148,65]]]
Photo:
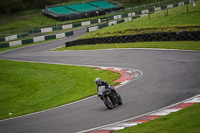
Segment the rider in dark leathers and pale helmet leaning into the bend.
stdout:
[[106,89],[111,89],[114,93],[115,90],[114,90],[114,86],[111,86],[109,83],[107,83],[105,80],[101,80],[100,78],[96,78],[95,79],[95,83],[97,85],[97,91],[98,91],[98,96],[100,96],[99,94],[99,86],[105,86]]

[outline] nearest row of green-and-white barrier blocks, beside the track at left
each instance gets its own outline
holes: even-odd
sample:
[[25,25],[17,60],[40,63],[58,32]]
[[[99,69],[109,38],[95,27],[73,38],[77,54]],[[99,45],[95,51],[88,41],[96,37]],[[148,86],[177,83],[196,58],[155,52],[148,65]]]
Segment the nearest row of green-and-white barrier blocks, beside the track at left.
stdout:
[[65,32],[65,33],[59,33],[56,35],[48,35],[48,36],[39,36],[31,39],[26,40],[18,40],[18,41],[12,41],[9,43],[0,44],[0,48],[6,48],[6,47],[14,47],[14,46],[20,46],[24,44],[30,44],[34,42],[41,42],[45,40],[55,39],[55,38],[64,38],[73,35],[73,31]]

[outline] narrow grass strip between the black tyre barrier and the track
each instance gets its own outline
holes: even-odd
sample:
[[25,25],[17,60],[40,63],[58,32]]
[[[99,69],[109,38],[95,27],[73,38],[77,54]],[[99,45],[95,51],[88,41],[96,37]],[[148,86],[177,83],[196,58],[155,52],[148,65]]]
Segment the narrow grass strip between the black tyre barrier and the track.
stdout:
[[[200,50],[200,41],[118,43],[118,46],[119,48],[162,48],[162,49]],[[113,48],[116,48],[116,44],[97,44],[97,45],[61,47],[52,51],[95,50],[95,49],[113,49]]]

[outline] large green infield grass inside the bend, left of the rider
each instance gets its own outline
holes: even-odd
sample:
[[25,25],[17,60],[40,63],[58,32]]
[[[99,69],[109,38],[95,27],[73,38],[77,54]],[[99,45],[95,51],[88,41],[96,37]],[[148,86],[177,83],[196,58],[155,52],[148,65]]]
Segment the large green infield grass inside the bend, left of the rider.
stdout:
[[[97,93],[94,79],[119,73],[95,68],[0,60],[0,119],[71,103]],[[11,116],[8,113],[13,113]]]

